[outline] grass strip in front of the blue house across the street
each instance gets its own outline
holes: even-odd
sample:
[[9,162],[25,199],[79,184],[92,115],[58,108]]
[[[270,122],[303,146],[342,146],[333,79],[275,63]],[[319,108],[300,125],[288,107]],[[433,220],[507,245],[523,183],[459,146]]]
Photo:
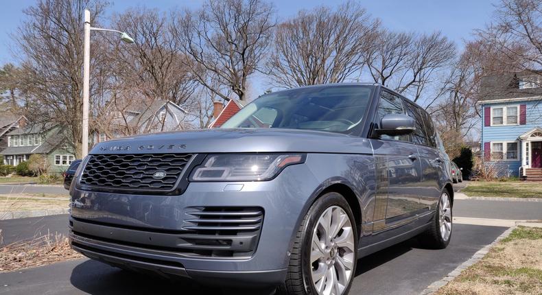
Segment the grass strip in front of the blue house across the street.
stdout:
[[469,197],[542,198],[542,184],[520,181],[471,181],[461,192]]

